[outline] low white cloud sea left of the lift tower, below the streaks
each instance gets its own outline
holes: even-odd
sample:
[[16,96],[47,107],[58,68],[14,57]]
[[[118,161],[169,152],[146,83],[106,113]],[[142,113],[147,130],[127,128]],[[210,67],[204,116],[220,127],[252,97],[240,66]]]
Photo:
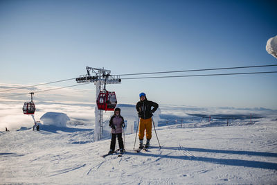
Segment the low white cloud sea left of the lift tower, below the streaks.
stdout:
[[[34,121],[30,115],[25,115],[22,112],[23,104],[20,101],[1,101],[0,104],[0,130],[18,130],[20,127],[33,127]],[[35,120],[39,119],[47,112],[64,113],[71,121],[69,124],[87,124],[93,128],[94,106],[80,103],[55,103],[55,102],[38,102],[36,103],[37,110],[35,112]]]

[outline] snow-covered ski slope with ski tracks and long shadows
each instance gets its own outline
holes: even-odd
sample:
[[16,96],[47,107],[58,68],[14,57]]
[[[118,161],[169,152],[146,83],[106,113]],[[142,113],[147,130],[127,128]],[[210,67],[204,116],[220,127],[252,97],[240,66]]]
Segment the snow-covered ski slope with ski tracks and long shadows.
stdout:
[[276,184],[276,113],[161,106],[161,149],[154,130],[148,152],[132,151],[135,133],[125,134],[123,157],[100,157],[110,139],[94,142],[89,123],[2,131],[0,184]]

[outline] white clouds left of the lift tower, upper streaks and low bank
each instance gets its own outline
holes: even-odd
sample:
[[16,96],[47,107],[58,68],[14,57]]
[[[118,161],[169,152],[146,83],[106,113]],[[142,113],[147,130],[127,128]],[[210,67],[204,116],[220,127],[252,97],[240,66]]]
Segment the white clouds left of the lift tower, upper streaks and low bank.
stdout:
[[[17,130],[20,127],[33,127],[33,118],[24,115],[22,107],[24,102],[30,101],[30,90],[35,91],[33,101],[36,105],[35,120],[39,121],[46,112],[62,112],[71,118],[69,123],[94,125],[94,103],[95,94],[91,89],[57,89],[54,91],[44,91],[57,87],[32,87],[33,89],[12,88],[26,87],[27,85],[1,84],[0,85],[0,130]],[[94,89],[94,88],[93,88]],[[36,93],[36,91],[44,91]],[[18,95],[19,96],[10,96]],[[3,97],[6,96],[6,97]]]

